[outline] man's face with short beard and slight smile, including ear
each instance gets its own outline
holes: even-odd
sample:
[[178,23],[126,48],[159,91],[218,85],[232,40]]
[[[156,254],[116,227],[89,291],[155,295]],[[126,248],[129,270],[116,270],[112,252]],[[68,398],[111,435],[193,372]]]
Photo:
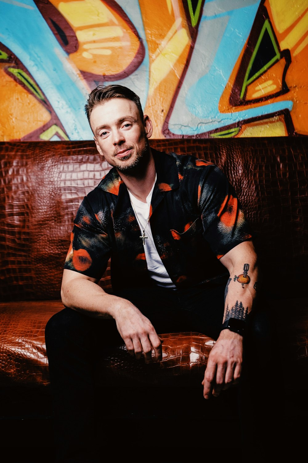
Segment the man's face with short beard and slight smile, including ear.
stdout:
[[141,120],[137,105],[125,98],[113,98],[95,106],[90,117],[98,152],[119,172],[129,172],[148,151],[152,123]]

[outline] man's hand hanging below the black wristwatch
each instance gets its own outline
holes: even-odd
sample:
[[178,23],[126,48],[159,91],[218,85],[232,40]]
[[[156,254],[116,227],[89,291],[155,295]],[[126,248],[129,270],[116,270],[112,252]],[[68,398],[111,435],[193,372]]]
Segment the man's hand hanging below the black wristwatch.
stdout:
[[217,397],[223,389],[238,383],[243,358],[243,338],[240,334],[223,330],[209,355],[205,369],[203,395]]

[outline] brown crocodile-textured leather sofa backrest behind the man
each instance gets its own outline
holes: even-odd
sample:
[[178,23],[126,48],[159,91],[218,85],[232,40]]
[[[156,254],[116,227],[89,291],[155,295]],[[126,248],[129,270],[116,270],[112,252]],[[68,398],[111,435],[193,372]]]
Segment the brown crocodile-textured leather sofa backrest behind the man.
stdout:
[[[236,188],[256,234],[268,294],[307,284],[308,138],[150,140],[214,162]],[[73,219],[110,166],[92,141],[0,143],[1,300],[60,298]],[[110,288],[109,269],[102,286]]]

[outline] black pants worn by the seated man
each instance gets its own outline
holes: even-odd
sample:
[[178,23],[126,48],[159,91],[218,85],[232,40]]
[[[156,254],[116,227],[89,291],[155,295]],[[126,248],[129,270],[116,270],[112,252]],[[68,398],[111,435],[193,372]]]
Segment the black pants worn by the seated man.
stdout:
[[[197,331],[216,339],[223,320],[224,289],[222,282],[186,290],[140,288],[118,295],[131,300],[151,320],[157,334]],[[254,313],[248,322],[239,387],[242,448],[245,453],[256,444],[260,454],[268,437],[267,425],[277,416],[276,401],[266,399],[275,365],[271,362],[272,334],[267,316]],[[54,400],[56,462],[104,461],[99,457],[95,432],[95,371],[104,346],[123,344],[115,320],[64,308],[48,321],[45,338]],[[217,432],[222,433],[222,439],[229,435],[227,430]]]

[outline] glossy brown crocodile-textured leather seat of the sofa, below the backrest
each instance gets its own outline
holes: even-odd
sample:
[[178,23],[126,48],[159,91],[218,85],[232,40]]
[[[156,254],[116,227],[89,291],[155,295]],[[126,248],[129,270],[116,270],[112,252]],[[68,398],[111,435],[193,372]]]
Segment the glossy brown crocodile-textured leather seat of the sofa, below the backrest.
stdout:
[[[308,299],[273,299],[267,304],[278,330],[277,359],[307,372]],[[63,307],[60,300],[0,303],[0,386],[49,384],[44,330],[48,319]],[[138,361],[124,343],[106,349],[97,365],[97,385],[119,385],[119,381],[137,386],[200,384],[214,340],[198,332],[158,334],[163,338],[162,362],[155,362],[154,351],[152,363]]]

